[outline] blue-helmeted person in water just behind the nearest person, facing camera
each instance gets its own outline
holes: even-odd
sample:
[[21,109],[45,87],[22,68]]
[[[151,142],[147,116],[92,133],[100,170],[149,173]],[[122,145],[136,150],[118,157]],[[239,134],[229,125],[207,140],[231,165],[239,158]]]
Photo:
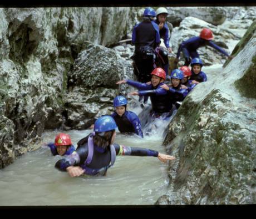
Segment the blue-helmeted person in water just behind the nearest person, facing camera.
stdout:
[[111,116],[114,118],[120,133],[136,133],[143,137],[141,123],[139,117],[132,111],[127,111],[127,99],[124,96],[118,95],[114,101],[115,113]]

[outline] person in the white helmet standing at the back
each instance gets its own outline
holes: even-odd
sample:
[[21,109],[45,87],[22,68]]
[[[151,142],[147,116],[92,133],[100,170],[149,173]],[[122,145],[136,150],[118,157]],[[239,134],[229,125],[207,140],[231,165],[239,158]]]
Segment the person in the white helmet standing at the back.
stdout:
[[[169,53],[172,52],[171,47],[169,45],[170,41],[170,35],[169,35],[169,28],[167,24],[165,23],[166,17],[168,15],[168,11],[164,7],[157,8],[156,10],[156,19],[155,23],[159,27],[159,34],[160,38],[164,39],[164,44],[168,50]],[[169,70],[169,60],[168,60],[168,53],[165,52],[163,47],[159,47],[159,50],[157,50],[157,53],[160,55],[159,59],[161,59],[161,62],[163,63],[163,68],[165,70],[166,76],[168,75]]]

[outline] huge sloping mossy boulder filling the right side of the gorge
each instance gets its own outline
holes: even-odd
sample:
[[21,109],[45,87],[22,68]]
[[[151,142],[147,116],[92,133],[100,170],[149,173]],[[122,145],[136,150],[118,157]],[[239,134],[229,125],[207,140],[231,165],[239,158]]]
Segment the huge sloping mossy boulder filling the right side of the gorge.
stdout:
[[169,125],[163,144],[176,160],[168,194],[157,204],[256,202],[256,31],[250,31],[243,49],[218,77],[196,85]]

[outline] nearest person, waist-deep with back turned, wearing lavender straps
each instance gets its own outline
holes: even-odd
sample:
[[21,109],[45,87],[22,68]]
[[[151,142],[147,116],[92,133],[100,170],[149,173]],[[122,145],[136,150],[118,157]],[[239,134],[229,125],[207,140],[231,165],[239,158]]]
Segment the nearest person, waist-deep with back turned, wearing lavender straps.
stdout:
[[67,171],[71,177],[87,175],[106,175],[107,169],[114,165],[116,156],[154,156],[160,161],[174,160],[174,156],[141,147],[115,144],[117,128],[115,120],[104,115],[95,121],[94,132],[77,142],[77,149],[64,159],[58,160],[55,167]]

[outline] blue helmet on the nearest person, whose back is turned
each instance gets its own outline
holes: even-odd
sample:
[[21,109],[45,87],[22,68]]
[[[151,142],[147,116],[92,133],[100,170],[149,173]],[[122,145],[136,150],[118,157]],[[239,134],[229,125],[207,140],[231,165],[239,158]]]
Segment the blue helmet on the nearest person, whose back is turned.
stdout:
[[101,116],[94,123],[95,133],[103,133],[105,131],[115,130],[117,128],[115,120],[110,115]]

